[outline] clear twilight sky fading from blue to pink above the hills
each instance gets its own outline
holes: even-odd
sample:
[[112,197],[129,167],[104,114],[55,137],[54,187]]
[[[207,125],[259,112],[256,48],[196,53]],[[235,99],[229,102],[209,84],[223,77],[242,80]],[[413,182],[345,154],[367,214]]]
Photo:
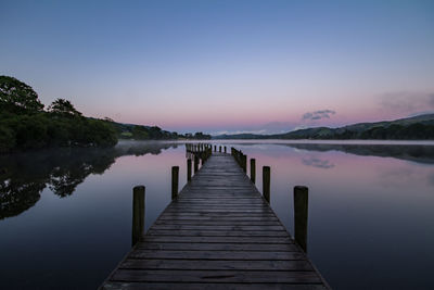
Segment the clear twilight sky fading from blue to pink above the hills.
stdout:
[[434,111],[430,0],[0,0],[0,75],[88,116],[271,133]]

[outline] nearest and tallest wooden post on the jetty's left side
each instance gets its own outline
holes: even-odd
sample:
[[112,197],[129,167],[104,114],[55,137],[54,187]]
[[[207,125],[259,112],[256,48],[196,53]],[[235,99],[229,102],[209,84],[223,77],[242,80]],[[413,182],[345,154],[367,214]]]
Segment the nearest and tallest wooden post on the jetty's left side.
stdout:
[[144,230],[144,186],[132,189],[132,235],[131,247],[140,241]]

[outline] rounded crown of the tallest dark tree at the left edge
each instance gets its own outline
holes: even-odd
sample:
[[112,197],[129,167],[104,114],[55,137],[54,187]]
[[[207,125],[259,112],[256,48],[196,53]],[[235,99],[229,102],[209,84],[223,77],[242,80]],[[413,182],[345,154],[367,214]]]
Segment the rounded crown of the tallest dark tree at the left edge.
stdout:
[[35,113],[42,111],[34,89],[11,76],[0,76],[0,110],[13,113]]

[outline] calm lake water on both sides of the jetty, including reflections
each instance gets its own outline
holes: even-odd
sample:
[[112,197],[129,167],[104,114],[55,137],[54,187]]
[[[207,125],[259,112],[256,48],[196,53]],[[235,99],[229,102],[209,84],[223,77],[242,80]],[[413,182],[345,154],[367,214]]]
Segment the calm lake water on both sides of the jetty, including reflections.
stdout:
[[[256,159],[259,189],[271,166],[271,206],[291,232],[292,188],[309,187],[308,254],[334,289],[434,289],[432,143],[226,143]],[[182,187],[182,143],[0,156],[1,288],[97,288],[130,248],[132,187],[146,187],[148,228],[173,165]]]

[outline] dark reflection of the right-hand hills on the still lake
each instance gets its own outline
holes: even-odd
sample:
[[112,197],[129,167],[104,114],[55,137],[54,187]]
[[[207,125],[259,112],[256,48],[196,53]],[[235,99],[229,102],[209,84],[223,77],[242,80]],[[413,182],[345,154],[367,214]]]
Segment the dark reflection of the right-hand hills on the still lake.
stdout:
[[434,146],[398,146],[398,144],[324,144],[291,143],[285,144],[309,151],[342,151],[355,155],[395,157],[418,163],[434,164]]

